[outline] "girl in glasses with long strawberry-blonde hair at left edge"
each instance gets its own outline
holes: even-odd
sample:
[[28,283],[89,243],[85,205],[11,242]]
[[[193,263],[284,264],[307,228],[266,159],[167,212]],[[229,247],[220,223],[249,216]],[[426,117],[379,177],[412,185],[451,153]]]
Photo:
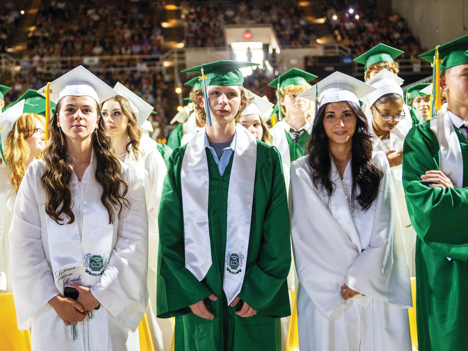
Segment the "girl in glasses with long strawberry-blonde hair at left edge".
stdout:
[[12,292],[8,231],[16,193],[26,168],[45,147],[44,117],[23,114],[24,103],[16,105],[0,116],[0,293]]

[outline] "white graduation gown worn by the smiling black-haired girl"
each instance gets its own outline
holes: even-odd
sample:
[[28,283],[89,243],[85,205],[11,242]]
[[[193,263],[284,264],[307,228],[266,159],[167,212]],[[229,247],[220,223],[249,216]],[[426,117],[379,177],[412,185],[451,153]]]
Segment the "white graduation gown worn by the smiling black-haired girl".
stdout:
[[[366,212],[350,204],[351,163],[342,181],[332,162],[336,186],[329,201],[314,186],[307,157],[292,163],[300,350],[411,350],[406,309],[412,305],[411,286],[401,230],[395,226],[393,184],[385,154],[375,154],[373,163],[384,177]],[[345,283],[366,296],[344,301]]]

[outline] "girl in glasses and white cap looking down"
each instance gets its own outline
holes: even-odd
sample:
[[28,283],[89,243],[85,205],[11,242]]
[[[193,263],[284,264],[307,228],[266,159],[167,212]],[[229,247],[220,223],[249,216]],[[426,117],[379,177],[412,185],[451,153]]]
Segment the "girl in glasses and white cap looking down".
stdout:
[[366,116],[372,121],[373,151],[384,151],[390,164],[409,274],[414,277],[416,232],[409,219],[402,184],[403,142],[407,134],[407,130],[399,126],[399,122],[407,118],[403,112],[403,91],[400,87],[402,83],[403,79],[384,69],[367,81],[367,84],[377,90],[367,95],[364,102],[367,106]]

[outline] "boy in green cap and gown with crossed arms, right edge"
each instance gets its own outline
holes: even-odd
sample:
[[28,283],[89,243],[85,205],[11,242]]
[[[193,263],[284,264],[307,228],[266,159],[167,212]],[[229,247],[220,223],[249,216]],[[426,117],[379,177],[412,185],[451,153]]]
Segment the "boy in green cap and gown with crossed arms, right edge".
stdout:
[[[419,57],[434,63],[434,109],[440,110],[411,129],[403,147],[403,186],[417,233],[418,344],[420,351],[462,351],[468,337],[468,36]],[[441,107],[439,86],[447,96]]]

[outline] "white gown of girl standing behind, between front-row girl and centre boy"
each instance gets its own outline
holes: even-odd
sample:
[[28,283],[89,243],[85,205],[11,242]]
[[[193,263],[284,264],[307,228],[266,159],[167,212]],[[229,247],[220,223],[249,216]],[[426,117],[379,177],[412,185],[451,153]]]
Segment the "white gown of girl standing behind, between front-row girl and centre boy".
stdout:
[[146,318],[155,351],[169,351],[172,344],[172,321],[168,318],[156,317],[156,275],[158,262],[158,211],[161,202],[162,185],[167,168],[164,159],[157,150],[157,143],[147,135],[140,140],[139,150],[143,155],[135,155],[132,151],[125,157],[125,165],[131,165],[139,178],[143,179],[148,212],[148,288],[149,301],[146,308]]

